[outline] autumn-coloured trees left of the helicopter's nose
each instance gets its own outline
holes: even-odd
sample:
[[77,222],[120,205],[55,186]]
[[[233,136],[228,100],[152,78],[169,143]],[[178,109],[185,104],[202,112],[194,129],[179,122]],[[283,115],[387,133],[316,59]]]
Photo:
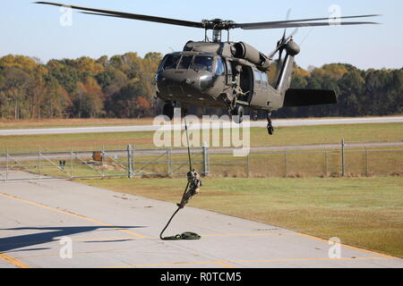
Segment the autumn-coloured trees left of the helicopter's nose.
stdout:
[[153,84],[162,56],[99,59],[0,58],[0,118],[139,118],[155,114]]

